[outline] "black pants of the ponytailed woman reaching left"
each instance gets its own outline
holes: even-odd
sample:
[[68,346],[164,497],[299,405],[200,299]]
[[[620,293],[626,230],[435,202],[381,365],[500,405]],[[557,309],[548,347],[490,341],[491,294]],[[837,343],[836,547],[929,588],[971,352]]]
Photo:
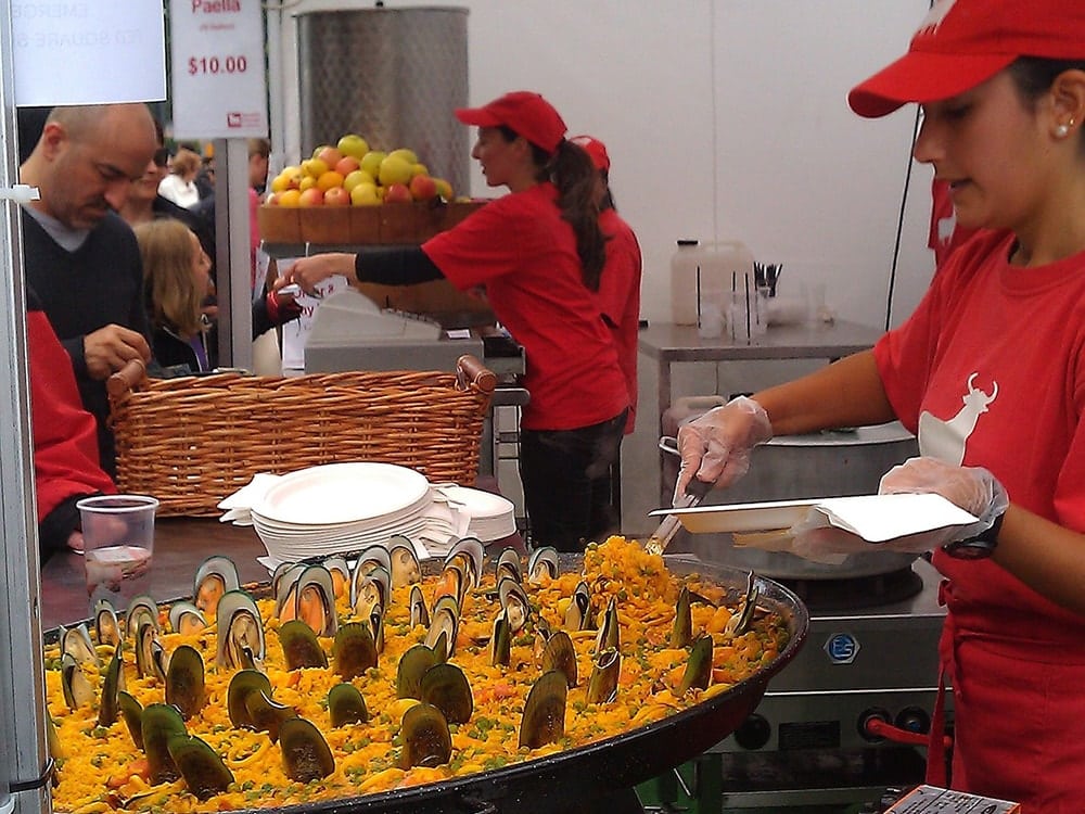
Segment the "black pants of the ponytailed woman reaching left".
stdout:
[[618,530],[611,466],[627,412],[577,430],[521,431],[520,480],[533,547],[583,551],[585,542]]

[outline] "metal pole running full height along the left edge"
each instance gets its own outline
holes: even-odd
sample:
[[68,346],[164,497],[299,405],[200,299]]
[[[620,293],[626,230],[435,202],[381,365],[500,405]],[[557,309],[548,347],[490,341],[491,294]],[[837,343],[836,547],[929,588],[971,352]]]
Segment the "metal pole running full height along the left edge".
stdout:
[[[11,2],[0,0],[0,192],[17,180]],[[14,811],[51,810],[46,736],[44,665],[41,652],[38,533],[30,447],[26,302],[18,205],[0,202],[0,778],[16,789]],[[13,431],[12,431],[13,430]],[[7,639],[7,641],[3,641]],[[18,711],[18,714],[16,714]],[[43,781],[36,785],[36,780]],[[26,787],[25,791],[17,790]],[[3,800],[0,799],[0,803]]]

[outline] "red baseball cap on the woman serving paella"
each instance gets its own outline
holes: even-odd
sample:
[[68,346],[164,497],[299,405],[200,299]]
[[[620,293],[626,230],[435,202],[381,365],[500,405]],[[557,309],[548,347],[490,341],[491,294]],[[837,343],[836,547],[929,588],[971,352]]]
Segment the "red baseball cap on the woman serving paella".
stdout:
[[855,86],[847,103],[877,118],[908,102],[949,99],[1019,56],[1085,59],[1085,2],[937,0],[908,53]]

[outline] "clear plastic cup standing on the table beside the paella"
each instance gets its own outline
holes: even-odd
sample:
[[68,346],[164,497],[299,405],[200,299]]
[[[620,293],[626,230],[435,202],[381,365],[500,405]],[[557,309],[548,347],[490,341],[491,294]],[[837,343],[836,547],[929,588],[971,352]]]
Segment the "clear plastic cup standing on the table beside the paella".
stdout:
[[151,593],[157,507],[148,495],[101,495],[76,504],[91,607],[104,598],[123,611],[133,597]]

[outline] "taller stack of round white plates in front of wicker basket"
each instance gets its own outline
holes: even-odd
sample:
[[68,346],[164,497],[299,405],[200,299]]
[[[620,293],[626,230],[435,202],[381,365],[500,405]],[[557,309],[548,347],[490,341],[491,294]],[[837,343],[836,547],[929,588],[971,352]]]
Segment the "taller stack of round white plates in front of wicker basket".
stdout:
[[391,463],[329,463],[283,475],[252,508],[253,526],[280,560],[322,557],[423,536],[433,505],[424,475]]

